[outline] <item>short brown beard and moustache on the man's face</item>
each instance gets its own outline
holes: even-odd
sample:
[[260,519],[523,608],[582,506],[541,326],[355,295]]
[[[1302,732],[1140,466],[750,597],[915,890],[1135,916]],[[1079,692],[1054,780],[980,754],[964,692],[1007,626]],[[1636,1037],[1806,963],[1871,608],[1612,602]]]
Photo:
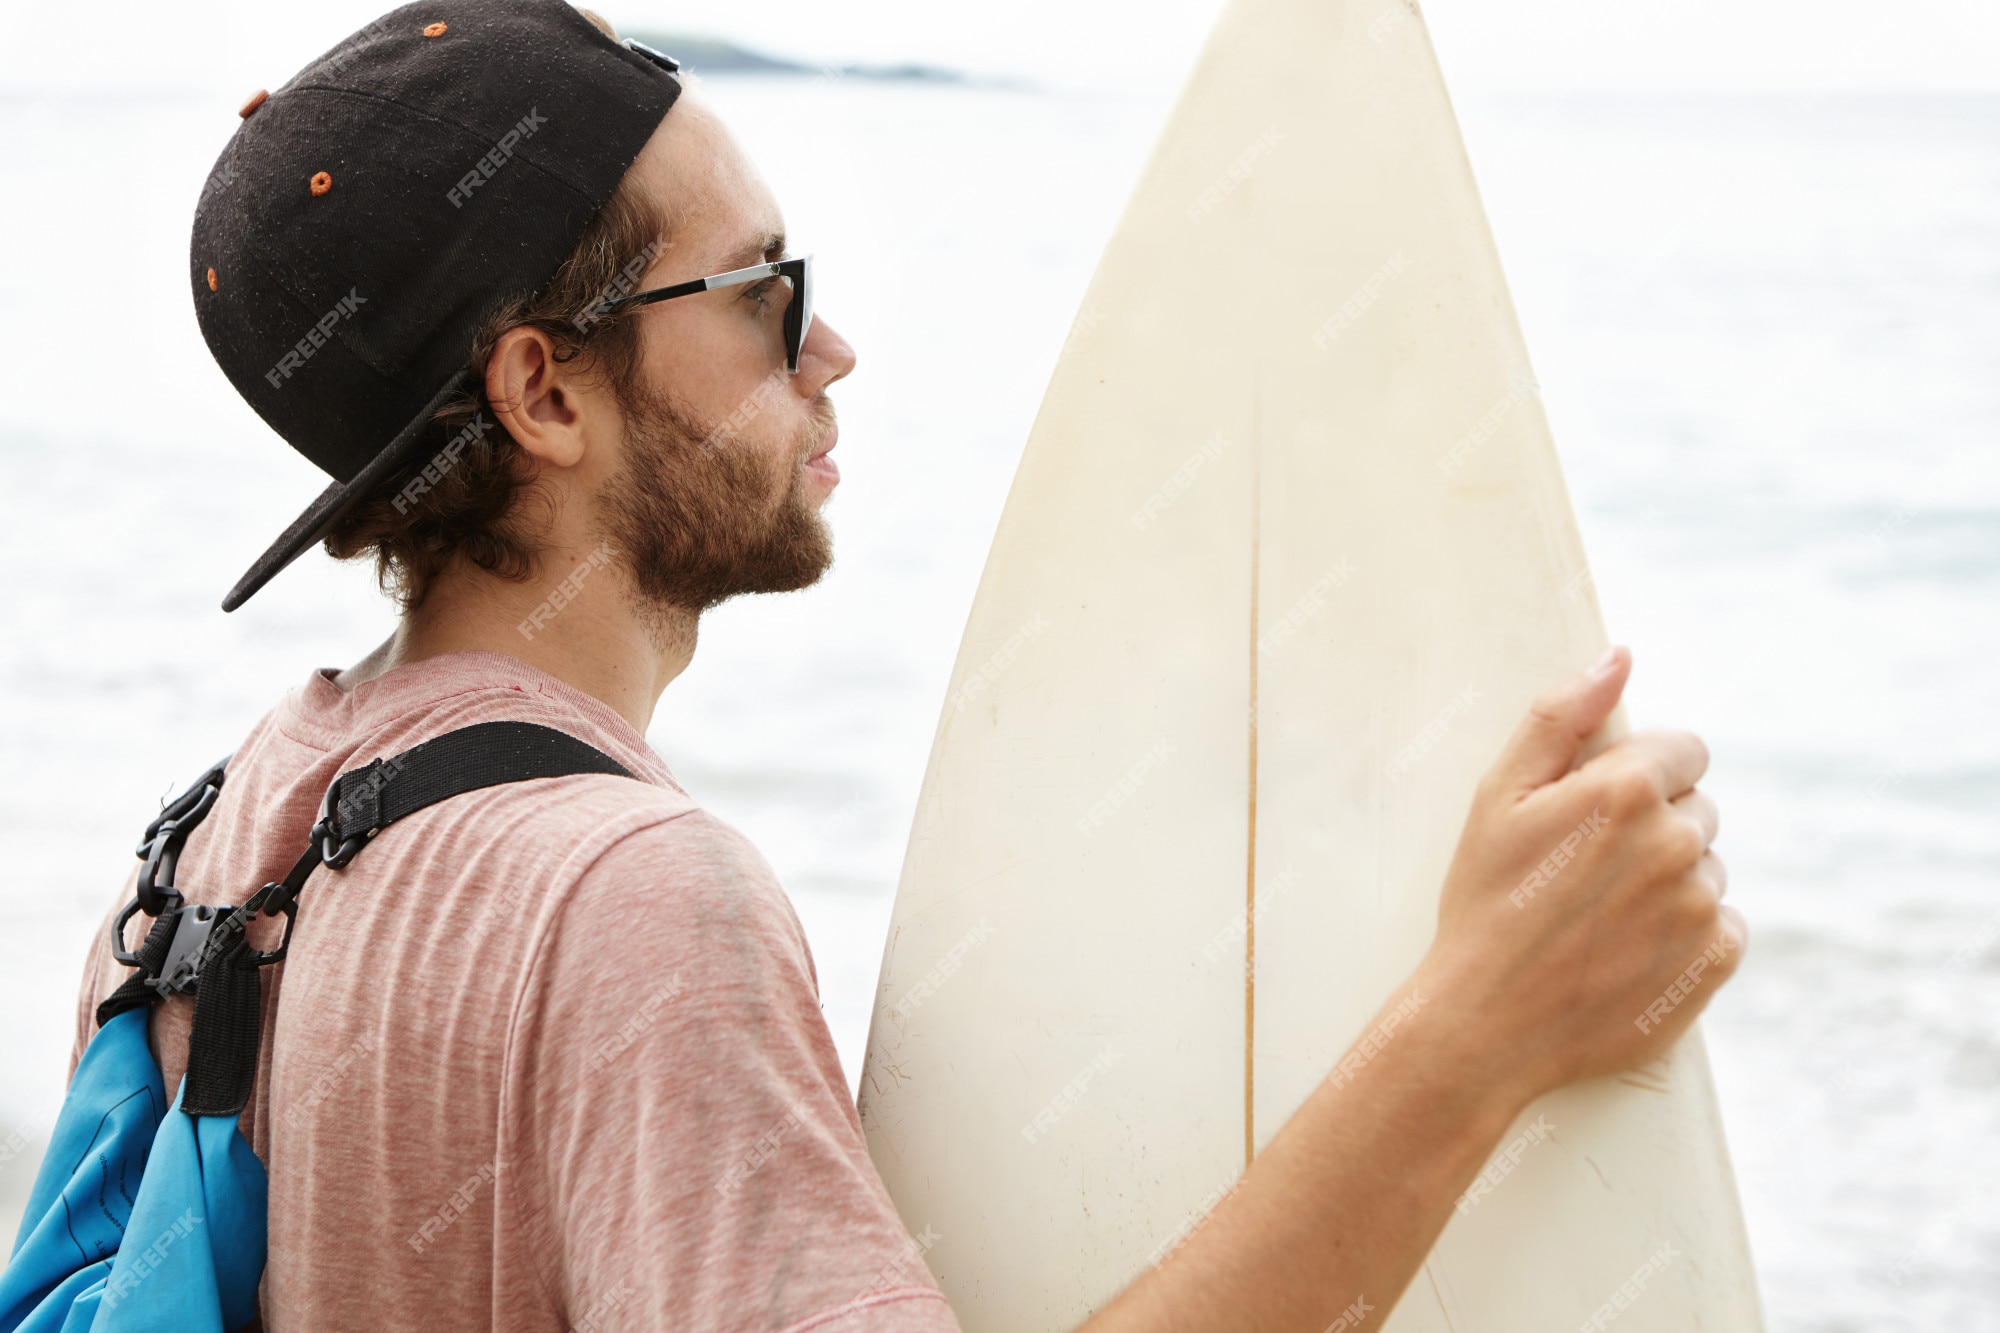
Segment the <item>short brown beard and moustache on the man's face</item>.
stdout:
[[774,484],[746,444],[704,428],[666,394],[630,384],[620,400],[624,462],[598,504],[640,598],[708,610],[740,592],[818,582],[834,562],[834,538],[806,494],[804,462],[832,426],[830,410],[786,482]]

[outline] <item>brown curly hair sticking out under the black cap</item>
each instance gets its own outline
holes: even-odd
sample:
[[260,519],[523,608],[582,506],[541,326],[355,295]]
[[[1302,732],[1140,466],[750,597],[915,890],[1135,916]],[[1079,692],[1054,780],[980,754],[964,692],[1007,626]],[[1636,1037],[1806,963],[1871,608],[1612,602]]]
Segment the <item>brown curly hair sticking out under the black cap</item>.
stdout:
[[[584,14],[610,32],[596,14]],[[598,306],[636,290],[668,226],[658,200],[642,196],[626,176],[548,286],[486,320],[472,342],[468,388],[430,418],[412,460],[328,528],[326,552],[338,560],[374,556],[376,580],[404,610],[422,604],[438,574],[460,558],[502,578],[532,578],[542,528],[534,510],[540,498],[546,514],[546,496],[538,496],[520,444],[494,420],[486,358],[510,328],[540,328],[554,340],[558,362],[584,358],[626,398],[638,372],[638,326]]]

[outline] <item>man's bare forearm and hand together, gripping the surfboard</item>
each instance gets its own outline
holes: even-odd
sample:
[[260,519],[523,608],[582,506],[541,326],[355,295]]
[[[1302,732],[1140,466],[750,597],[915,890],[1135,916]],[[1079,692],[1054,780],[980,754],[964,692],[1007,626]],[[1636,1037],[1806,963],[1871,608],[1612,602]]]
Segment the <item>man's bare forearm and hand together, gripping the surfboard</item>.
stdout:
[[1616,648],[1538,699],[1480,783],[1438,937],[1376,1015],[1416,993],[1422,1017],[1322,1081],[1208,1225],[1084,1333],[1386,1315],[1534,1097],[1660,1055],[1736,971],[1702,743],[1646,733],[1576,765],[1630,671]]

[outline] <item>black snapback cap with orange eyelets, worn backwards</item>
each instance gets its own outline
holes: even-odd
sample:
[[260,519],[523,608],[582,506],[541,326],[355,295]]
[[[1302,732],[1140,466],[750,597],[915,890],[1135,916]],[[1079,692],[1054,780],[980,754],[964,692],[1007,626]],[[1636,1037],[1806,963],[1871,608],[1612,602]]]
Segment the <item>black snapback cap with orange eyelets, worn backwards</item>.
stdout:
[[236,390],[334,482],[224,610],[422,448],[480,326],[554,278],[676,70],[564,0],[436,0],[244,106],[194,210],[194,310]]

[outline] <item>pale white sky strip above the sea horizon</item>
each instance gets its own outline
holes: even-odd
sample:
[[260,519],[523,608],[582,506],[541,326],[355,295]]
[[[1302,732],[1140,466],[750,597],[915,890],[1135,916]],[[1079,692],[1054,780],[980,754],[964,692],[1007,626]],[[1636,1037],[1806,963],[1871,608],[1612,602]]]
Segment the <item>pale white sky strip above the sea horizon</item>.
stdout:
[[[1396,0],[1354,0],[1388,8]],[[278,86],[382,0],[0,2],[0,94]],[[622,30],[806,62],[932,62],[1054,86],[1178,86],[1220,0],[602,0]],[[1460,92],[2000,92],[1994,0],[1430,0]],[[6,148],[0,146],[0,152]]]

